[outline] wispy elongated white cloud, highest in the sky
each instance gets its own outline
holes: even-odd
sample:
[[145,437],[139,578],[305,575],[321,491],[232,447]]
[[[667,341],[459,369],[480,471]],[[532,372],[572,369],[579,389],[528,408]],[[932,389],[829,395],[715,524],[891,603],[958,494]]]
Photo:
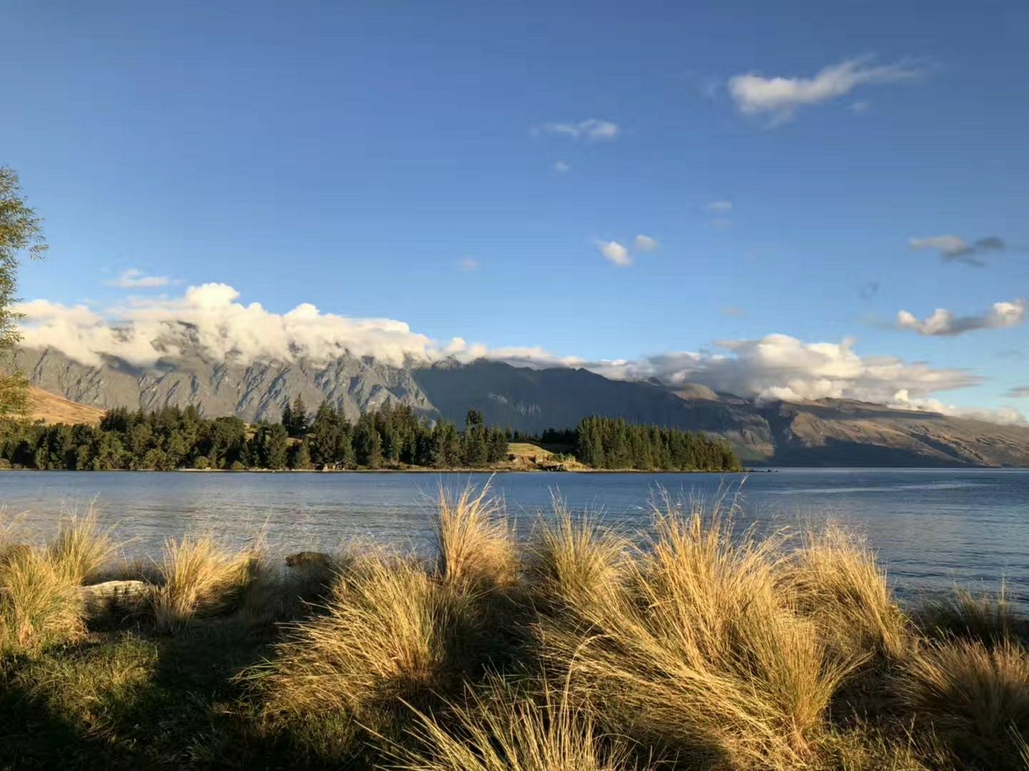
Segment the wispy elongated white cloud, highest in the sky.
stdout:
[[729,93],[745,115],[768,114],[773,122],[788,120],[800,107],[846,96],[860,85],[911,80],[925,74],[911,62],[877,65],[873,57],[849,59],[820,70],[814,77],[764,77],[753,72],[729,79]]

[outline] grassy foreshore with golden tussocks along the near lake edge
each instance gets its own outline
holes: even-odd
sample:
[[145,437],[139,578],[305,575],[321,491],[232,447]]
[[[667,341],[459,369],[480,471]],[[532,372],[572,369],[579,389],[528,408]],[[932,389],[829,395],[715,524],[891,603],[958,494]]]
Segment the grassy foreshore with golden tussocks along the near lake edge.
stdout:
[[[429,557],[289,567],[207,538],[121,564],[88,515],[45,546],[7,533],[0,767],[1029,766],[1002,596],[902,610],[839,528],[651,513],[641,544],[557,502],[518,540],[466,490],[441,497]],[[81,588],[110,578],[140,583]]]

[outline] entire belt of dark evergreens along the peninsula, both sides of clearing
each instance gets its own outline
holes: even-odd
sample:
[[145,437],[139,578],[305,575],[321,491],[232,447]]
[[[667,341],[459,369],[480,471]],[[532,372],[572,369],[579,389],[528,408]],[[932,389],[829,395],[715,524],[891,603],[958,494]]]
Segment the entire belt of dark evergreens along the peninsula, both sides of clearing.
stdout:
[[[459,431],[405,405],[385,404],[351,423],[330,404],[314,415],[303,399],[287,403],[278,424],[204,417],[196,407],[108,411],[98,426],[0,420],[0,468],[77,471],[218,469],[490,469],[510,456],[519,437],[487,426],[469,409]],[[624,419],[587,418],[548,431],[556,458],[593,469],[738,471],[728,442]],[[566,468],[557,466],[556,468]]]

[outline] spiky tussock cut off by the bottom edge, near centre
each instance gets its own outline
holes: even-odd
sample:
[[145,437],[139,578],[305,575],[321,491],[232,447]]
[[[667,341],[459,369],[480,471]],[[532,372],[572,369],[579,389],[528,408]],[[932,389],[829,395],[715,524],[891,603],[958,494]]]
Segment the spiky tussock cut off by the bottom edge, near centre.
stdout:
[[633,743],[604,734],[567,691],[541,684],[533,698],[499,677],[451,705],[448,720],[417,713],[416,747],[394,745],[393,768],[406,771],[628,771],[644,766]]

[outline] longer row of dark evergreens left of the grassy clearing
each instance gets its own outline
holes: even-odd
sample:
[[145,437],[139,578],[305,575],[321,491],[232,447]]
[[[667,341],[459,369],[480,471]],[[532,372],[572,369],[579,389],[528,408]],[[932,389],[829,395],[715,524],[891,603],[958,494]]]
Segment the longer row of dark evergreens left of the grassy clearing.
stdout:
[[0,467],[117,469],[484,468],[507,456],[510,432],[469,410],[464,431],[389,403],[356,423],[325,403],[313,418],[301,399],[278,424],[206,418],[196,407],[112,409],[99,426],[0,421]]

